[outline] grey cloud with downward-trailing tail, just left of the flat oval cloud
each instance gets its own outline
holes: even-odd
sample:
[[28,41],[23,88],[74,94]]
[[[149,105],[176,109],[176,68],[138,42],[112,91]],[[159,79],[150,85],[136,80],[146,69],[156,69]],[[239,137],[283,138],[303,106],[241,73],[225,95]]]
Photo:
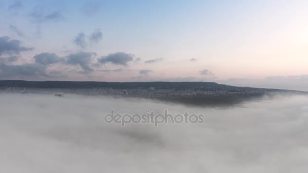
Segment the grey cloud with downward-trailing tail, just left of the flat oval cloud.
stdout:
[[84,70],[85,73],[89,73],[94,71],[90,65],[93,57],[96,53],[92,52],[80,52],[75,54],[69,54],[67,56],[66,63],[70,65],[80,65],[80,67]]

